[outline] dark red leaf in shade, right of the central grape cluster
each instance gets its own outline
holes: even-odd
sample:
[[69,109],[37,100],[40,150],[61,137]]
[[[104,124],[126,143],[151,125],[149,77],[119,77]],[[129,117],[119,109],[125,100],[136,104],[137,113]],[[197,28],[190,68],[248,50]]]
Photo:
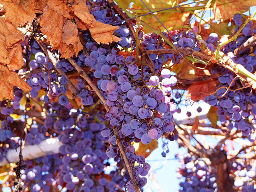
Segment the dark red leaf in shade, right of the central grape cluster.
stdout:
[[192,84],[188,88],[188,93],[194,101],[203,100],[206,96],[216,90],[218,80],[200,81]]

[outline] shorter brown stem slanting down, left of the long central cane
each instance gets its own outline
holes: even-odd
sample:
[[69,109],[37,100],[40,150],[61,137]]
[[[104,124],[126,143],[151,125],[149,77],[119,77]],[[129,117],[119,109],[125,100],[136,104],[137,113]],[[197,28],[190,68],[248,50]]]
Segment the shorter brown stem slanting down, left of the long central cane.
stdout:
[[[40,45],[40,47],[42,48],[42,50],[44,51],[44,53],[46,54],[46,56],[49,58],[49,60],[52,62],[54,68],[58,71],[58,73],[62,76],[64,76],[67,80],[67,87],[68,89],[72,92],[73,94],[73,98],[76,98],[79,94],[79,91],[76,89],[76,87],[72,84],[72,82],[69,80],[68,76],[65,74],[65,72],[62,69],[57,68],[56,66],[56,59],[54,58],[54,56],[52,55],[52,53],[47,49],[46,45],[40,42],[39,38],[36,38],[36,41],[38,42],[38,44]],[[49,74],[50,75],[50,74]],[[50,82],[49,82],[50,83]],[[49,90],[50,91],[50,90]]]

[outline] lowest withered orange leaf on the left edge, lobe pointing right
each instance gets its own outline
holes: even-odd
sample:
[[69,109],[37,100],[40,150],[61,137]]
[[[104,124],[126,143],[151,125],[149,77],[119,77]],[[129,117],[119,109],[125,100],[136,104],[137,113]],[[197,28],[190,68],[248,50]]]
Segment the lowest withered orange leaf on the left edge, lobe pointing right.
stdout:
[[24,91],[30,91],[31,87],[14,71],[9,71],[4,65],[0,65],[0,100],[14,98],[13,86],[20,87]]

